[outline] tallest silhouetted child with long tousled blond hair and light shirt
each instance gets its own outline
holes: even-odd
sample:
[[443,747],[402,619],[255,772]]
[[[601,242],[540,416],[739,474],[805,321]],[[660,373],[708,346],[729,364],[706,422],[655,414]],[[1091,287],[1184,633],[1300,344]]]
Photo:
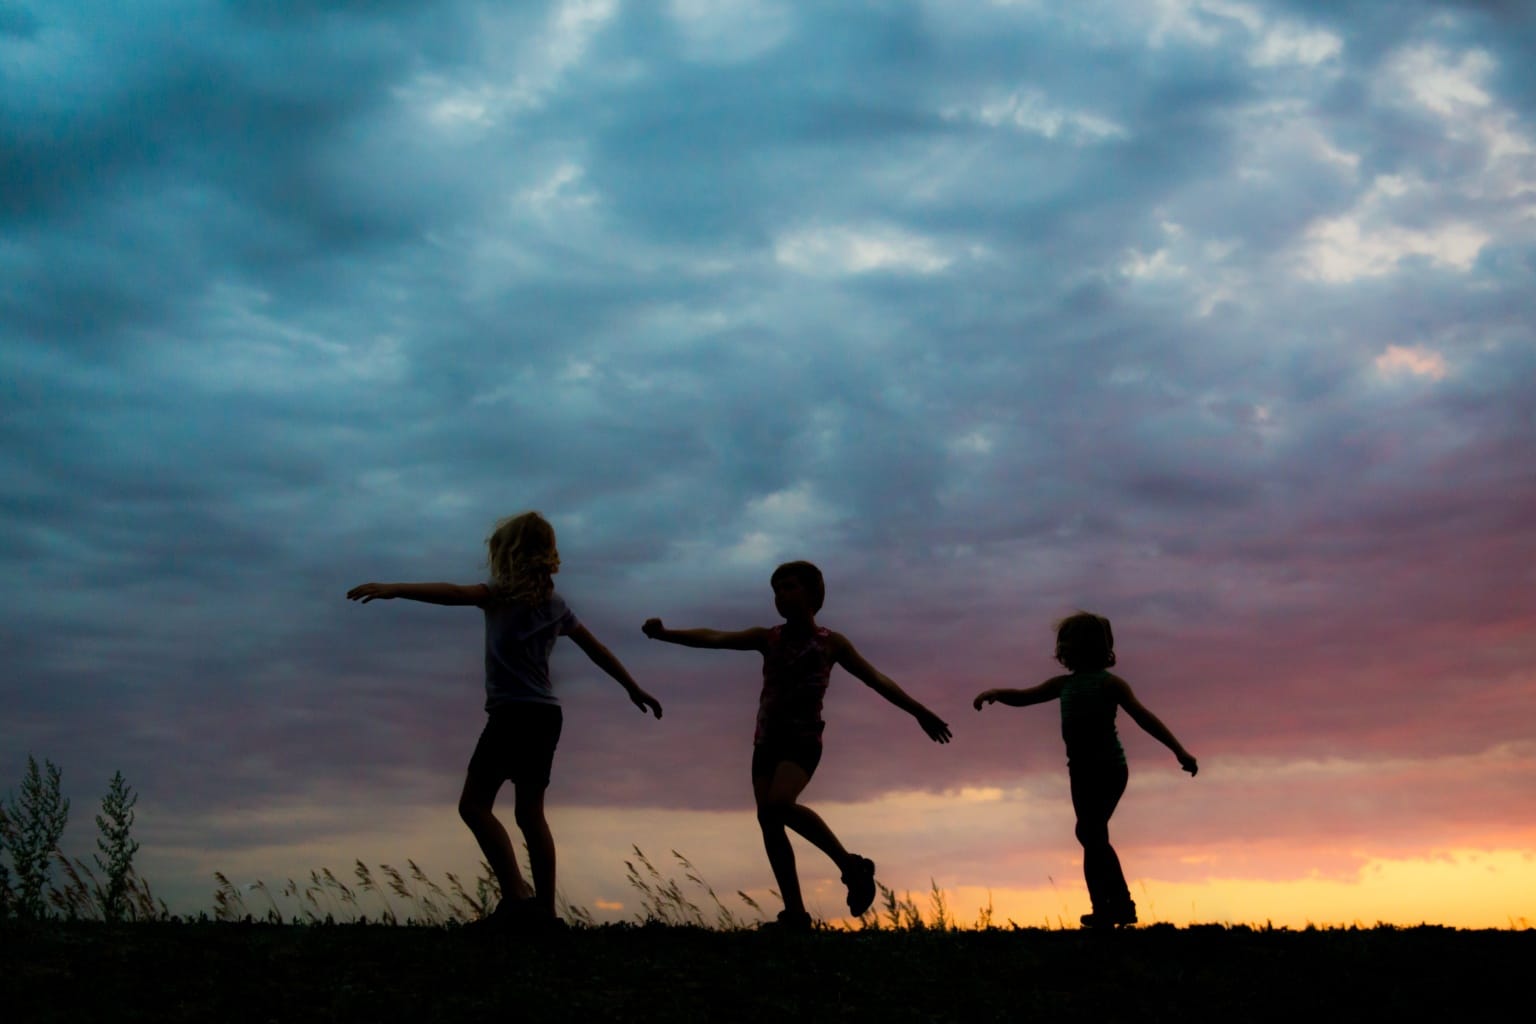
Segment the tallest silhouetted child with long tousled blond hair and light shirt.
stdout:
[[[561,738],[561,702],[550,683],[550,651],[568,636],[604,672],[616,679],[641,711],[657,718],[662,706],[641,689],[619,659],[576,620],[554,593],[561,556],[554,528],[535,511],[510,516],[487,537],[490,580],[456,583],[362,583],[347,591],[364,603],[389,597],[432,605],[473,605],[485,613],[485,729],[470,757],[459,817],[501,883],[501,903],[485,918],[493,929],[544,929],[564,924],[554,915],[554,837],[544,820],[554,745]],[[507,829],[492,806],[504,781],[513,785],[513,817],[528,844],[533,887],[522,880]]]

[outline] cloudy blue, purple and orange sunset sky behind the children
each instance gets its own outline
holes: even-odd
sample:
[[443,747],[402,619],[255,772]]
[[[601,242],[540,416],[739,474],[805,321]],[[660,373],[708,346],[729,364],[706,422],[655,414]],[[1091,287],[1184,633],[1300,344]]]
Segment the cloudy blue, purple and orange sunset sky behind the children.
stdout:
[[[805,800],[962,917],[1087,910],[1054,619],[1123,722],[1143,920],[1536,918],[1536,17],[1525,5],[0,3],[0,791],[115,769],[183,909],[470,872],[473,609],[542,510],[567,898],[771,886],[754,656],[822,622]],[[836,870],[800,846],[813,909]],[[771,907],[776,909],[776,907]]]

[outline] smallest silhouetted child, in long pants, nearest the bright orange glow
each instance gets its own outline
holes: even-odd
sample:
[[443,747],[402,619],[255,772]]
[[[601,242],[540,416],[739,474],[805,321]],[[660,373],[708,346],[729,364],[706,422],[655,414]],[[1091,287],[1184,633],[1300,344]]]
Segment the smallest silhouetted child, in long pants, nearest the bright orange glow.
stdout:
[[1061,702],[1061,738],[1077,812],[1077,841],[1083,844],[1083,877],[1094,912],[1087,927],[1137,923],[1137,904],[1126,889],[1115,847],[1109,844],[1109,815],[1126,792],[1126,751],[1115,735],[1115,709],[1124,708],[1132,722],[1174,751],[1180,766],[1193,775],[1195,758],[1180,746],[1167,726],[1141,706],[1129,683],[1107,669],[1115,663],[1115,634],[1109,619],[1080,611],[1057,623],[1055,657],[1071,676],[1048,679],[1029,689],[988,689],[977,694],[975,709],[1001,703],[1012,708]]

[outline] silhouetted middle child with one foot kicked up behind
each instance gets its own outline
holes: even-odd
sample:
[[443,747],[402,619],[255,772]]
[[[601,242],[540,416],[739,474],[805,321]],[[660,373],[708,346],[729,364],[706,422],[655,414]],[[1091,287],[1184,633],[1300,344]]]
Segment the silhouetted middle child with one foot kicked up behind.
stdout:
[[809,562],[786,562],[770,579],[774,608],[783,625],[727,633],[720,629],[668,629],[660,619],[642,626],[653,640],[693,648],[757,651],[763,656],[763,689],[757,702],[757,729],[753,737],[753,797],[757,823],[783,912],[779,926],[809,930],[800,878],[794,869],[794,849],[785,826],[794,829],[826,854],[848,886],[848,912],[862,915],[874,903],[874,861],[849,854],[820,815],[796,798],[822,760],[822,699],[834,665],[906,711],[929,738],[949,742],[949,726],[932,711],[912,700],[883,674],[863,660],[848,637],[816,625],[826,585],[822,571]]

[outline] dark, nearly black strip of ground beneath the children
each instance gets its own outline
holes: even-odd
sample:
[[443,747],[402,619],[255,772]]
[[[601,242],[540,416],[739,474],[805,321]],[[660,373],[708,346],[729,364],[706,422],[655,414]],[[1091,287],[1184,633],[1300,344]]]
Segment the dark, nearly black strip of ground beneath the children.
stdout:
[[[1364,1021],[1531,1004],[1536,932],[823,932],[544,940],[0,923],[6,1021]],[[1522,1015],[1524,1010],[1514,1013]]]

